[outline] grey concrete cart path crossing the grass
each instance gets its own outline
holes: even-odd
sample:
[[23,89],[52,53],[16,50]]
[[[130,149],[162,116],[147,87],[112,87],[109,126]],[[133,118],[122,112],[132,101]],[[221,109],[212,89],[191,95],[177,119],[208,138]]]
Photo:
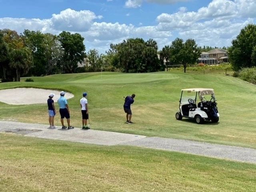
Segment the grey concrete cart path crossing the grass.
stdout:
[[97,131],[92,129],[82,130],[75,128],[62,130],[61,127],[57,129],[49,129],[48,127],[48,125],[0,121],[0,132],[2,133],[16,133],[26,137],[87,144],[140,146],[256,164],[256,149],[252,148],[201,143],[181,139],[146,137],[143,135]]

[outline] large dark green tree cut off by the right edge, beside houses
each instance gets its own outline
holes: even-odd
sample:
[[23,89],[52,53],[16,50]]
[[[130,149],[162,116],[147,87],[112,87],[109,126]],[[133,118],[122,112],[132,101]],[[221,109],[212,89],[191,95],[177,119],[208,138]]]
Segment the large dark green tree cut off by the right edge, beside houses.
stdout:
[[228,57],[235,71],[256,66],[256,24],[248,24],[232,41]]

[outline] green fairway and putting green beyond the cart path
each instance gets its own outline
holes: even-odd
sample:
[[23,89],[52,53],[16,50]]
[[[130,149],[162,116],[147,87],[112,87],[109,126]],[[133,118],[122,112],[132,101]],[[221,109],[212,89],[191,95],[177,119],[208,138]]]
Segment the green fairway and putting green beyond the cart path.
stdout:
[[[190,72],[49,75],[32,77],[34,82],[0,83],[0,89],[40,87],[70,91],[75,96],[68,100],[71,124],[75,127],[81,127],[79,101],[86,91],[92,129],[256,148],[256,86],[224,75],[224,71],[205,75]],[[188,119],[175,119],[180,89],[193,87],[215,90],[219,123],[197,125]],[[123,96],[132,93],[136,94],[132,105],[132,121],[136,124],[127,125]],[[56,95],[54,101],[57,99]],[[48,124],[46,104],[0,103],[0,111],[1,120]],[[56,120],[60,125],[59,115]]]

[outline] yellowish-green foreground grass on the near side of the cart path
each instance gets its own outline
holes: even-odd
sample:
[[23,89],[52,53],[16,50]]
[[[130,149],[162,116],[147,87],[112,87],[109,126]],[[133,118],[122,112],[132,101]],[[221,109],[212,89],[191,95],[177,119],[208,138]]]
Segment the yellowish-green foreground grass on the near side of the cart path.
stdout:
[[255,191],[255,164],[3,133],[0,146],[2,192]]

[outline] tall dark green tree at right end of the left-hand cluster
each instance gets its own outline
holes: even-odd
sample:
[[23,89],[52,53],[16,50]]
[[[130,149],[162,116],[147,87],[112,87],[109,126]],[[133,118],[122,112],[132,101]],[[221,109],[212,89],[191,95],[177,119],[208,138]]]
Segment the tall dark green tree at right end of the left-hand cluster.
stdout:
[[84,38],[78,33],[71,34],[63,31],[59,35],[59,40],[64,49],[60,66],[64,73],[74,73],[78,61],[82,63],[86,57]]

